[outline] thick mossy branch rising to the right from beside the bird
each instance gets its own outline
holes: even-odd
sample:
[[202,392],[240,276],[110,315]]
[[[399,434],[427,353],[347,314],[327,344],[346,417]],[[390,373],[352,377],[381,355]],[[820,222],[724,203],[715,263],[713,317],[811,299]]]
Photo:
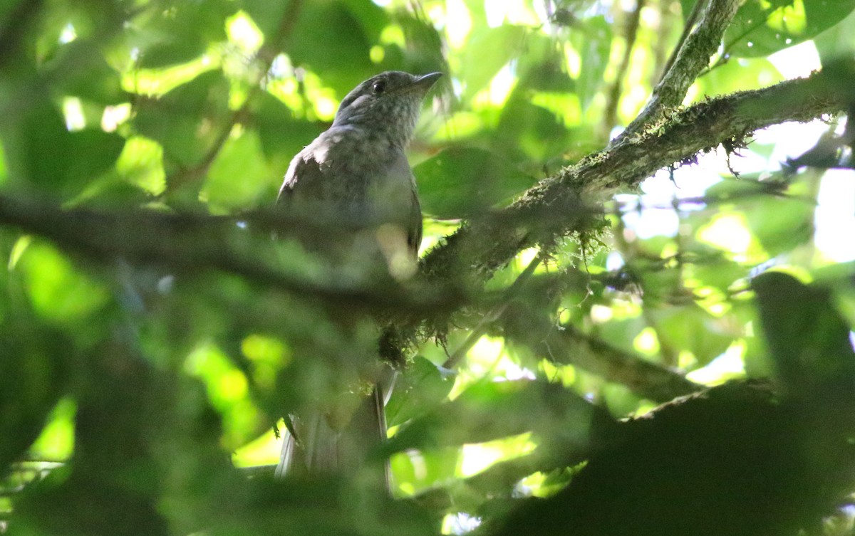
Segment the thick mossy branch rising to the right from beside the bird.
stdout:
[[510,207],[464,224],[423,260],[431,280],[480,287],[524,248],[590,230],[589,206],[617,189],[633,189],[657,170],[752,131],[808,121],[846,108],[846,96],[823,73],[742,91],[682,109],[635,137],[624,137],[528,189]]

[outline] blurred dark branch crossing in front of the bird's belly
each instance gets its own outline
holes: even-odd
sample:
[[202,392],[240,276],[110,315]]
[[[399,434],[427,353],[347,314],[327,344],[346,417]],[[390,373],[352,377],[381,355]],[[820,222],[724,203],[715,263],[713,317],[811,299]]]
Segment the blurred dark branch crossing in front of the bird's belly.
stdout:
[[[280,219],[278,225],[277,219]],[[336,306],[374,313],[409,312],[418,318],[453,310],[469,301],[456,288],[440,288],[443,285],[439,282],[439,286],[401,283],[390,277],[342,283],[337,277],[310,277],[305,271],[283,268],[276,264],[276,242],[271,240],[268,226],[299,230],[301,225],[293,224],[298,220],[287,215],[256,213],[241,219],[249,222],[250,228],[241,229],[237,218],[145,210],[62,210],[50,203],[0,195],[0,224],[44,236],[60,248],[82,253],[97,262],[127,259],[140,265],[162,265],[169,270],[192,273],[214,269]],[[282,225],[288,221],[292,224]],[[252,229],[256,223],[262,232]],[[302,223],[311,228],[318,222]],[[319,229],[315,227],[315,231]]]

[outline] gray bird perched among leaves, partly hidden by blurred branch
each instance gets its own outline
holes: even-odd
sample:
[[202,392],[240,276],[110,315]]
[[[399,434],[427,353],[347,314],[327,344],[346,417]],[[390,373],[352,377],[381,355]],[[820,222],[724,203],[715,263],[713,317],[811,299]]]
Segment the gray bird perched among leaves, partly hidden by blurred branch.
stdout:
[[[345,96],[329,130],[294,157],[277,204],[362,229],[357,234],[315,236],[310,248],[331,247],[336,253],[327,252],[328,260],[382,265],[393,277],[415,269],[422,209],[404,149],[413,137],[423,97],[440,76],[387,71],[365,80]],[[383,407],[389,383],[379,382],[344,424],[321,411],[292,416],[276,474],[356,474],[365,454],[386,438]],[[382,478],[386,485],[387,471]]]

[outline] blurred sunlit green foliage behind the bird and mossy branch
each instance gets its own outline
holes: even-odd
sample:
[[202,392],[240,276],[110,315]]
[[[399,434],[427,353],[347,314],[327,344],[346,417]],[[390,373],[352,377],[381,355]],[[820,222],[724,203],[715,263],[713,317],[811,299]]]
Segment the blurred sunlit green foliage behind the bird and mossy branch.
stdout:
[[[685,524],[673,533],[708,533],[709,520],[659,486],[677,478],[668,458],[639,477],[646,489],[632,487],[626,469],[597,504],[579,506],[561,490],[586,475],[586,460],[595,468],[615,459],[602,452],[624,434],[617,419],[727,380],[775,378],[799,415],[855,407],[842,394],[817,396],[852,378],[840,365],[852,358],[855,320],[851,161],[850,169],[781,170],[818,137],[840,136],[845,120],[781,125],[640,189],[604,190],[581,216],[586,231],[515,251],[484,288],[454,282],[465,298],[451,293],[451,305],[442,293],[433,301],[382,288],[360,294],[293,242],[245,225],[265,214],[292,155],[327,128],[355,84],[386,69],[442,71],[410,150],[423,253],[441,250],[464,222],[508,207],[628,125],[694,7],[3,3],[0,532],[597,533],[593,521],[566,517],[568,504],[610,504],[630,522],[628,504],[661,495],[662,505],[646,508],[675,509],[672,521]],[[836,65],[852,53],[853,8],[750,0],[683,103]],[[772,278],[755,297],[750,277],[772,267],[814,286]],[[332,477],[274,480],[274,424],[310,399],[346,391],[375,359],[377,323],[413,316],[427,321],[406,347],[387,408],[392,437],[379,453],[391,459],[394,497]],[[794,337],[804,325],[811,329]],[[781,365],[787,348],[801,364]],[[799,361],[816,354],[823,358]],[[711,409],[654,430],[660,443],[626,448],[677,458],[681,446],[728,449],[736,454],[722,467],[733,475],[722,478],[737,486],[740,446],[766,445],[764,424],[793,419],[764,413],[769,399],[755,406],[753,395],[722,393]],[[758,437],[728,430],[740,419]],[[834,456],[805,466],[846,476],[852,457],[838,435],[852,420],[831,421],[837,428],[817,445]],[[733,442],[687,443],[705,422]],[[819,429],[799,423],[783,437]],[[773,439],[772,452],[785,452],[789,444]],[[782,459],[784,469],[804,462]],[[698,466],[683,469],[690,481],[703,477]],[[578,482],[587,489],[585,477]],[[803,512],[823,518],[818,525],[787,517],[769,532],[713,528],[852,533],[852,479],[835,485],[833,498]],[[592,489],[580,493],[593,497]],[[729,491],[711,488],[693,504],[715,505]]]

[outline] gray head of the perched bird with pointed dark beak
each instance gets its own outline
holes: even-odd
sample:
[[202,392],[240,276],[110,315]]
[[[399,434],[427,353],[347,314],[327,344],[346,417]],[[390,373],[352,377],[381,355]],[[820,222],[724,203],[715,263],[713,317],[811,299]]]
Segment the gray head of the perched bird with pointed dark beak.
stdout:
[[413,137],[422,99],[440,76],[386,71],[365,80],[345,96],[333,126],[359,126],[404,147]]

